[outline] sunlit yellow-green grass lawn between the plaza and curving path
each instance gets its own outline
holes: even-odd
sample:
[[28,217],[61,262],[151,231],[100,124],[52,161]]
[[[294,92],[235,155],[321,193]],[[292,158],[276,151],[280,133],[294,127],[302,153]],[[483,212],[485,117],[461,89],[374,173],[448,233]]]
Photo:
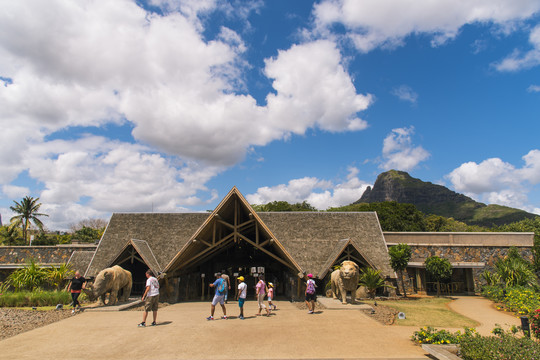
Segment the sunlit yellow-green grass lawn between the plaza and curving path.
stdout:
[[[438,327],[476,327],[478,322],[458,314],[448,307],[452,300],[448,298],[411,298],[410,300],[378,301],[377,304],[389,306],[405,313],[406,319],[396,318],[396,325],[402,326],[438,326]],[[365,301],[373,305],[373,301]]]

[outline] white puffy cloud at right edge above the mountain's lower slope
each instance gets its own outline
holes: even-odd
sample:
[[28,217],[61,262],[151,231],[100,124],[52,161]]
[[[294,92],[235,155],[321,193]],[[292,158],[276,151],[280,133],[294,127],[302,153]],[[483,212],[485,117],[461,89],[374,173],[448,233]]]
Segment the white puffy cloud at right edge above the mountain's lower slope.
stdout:
[[527,205],[527,194],[532,186],[540,183],[540,150],[531,150],[522,157],[521,168],[491,158],[481,163],[467,162],[446,177],[456,191],[479,201],[522,208],[539,213]]

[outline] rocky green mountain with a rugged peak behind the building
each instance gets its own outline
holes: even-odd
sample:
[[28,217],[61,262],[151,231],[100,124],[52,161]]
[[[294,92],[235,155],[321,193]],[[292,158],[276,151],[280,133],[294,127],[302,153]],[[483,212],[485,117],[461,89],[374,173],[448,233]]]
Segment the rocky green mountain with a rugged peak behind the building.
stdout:
[[502,225],[537,216],[507,206],[486,205],[396,170],[380,174],[373,188],[368,187],[355,204],[382,201],[413,204],[425,214],[452,217],[469,225]]

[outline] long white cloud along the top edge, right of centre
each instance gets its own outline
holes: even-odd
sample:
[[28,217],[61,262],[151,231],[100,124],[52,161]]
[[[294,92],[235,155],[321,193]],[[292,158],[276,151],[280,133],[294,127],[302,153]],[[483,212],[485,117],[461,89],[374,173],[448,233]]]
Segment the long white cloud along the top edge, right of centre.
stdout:
[[356,48],[367,52],[379,46],[400,46],[410,34],[427,34],[432,45],[438,46],[453,39],[466,24],[508,27],[539,10],[536,0],[324,0],[313,13],[316,32],[328,35],[340,24]]

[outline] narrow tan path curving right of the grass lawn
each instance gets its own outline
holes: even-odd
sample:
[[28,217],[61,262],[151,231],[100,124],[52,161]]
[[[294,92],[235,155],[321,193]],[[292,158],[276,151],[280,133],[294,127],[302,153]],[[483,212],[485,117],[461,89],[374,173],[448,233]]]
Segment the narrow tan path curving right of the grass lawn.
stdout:
[[479,296],[453,296],[452,298],[456,300],[450,302],[450,309],[478,321],[480,325],[476,327],[476,330],[481,335],[492,335],[491,330],[496,324],[505,330],[512,325],[521,325],[519,317],[496,310],[494,303],[486,298]]

